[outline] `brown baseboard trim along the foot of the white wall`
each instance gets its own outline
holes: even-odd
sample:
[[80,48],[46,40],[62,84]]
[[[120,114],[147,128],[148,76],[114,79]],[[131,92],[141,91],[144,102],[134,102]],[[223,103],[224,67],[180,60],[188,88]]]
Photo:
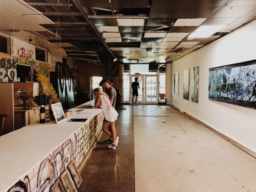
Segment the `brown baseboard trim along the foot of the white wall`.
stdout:
[[[173,106],[173,105],[172,105]],[[173,106],[174,108],[176,108],[177,110],[179,110],[179,108]],[[179,111],[181,112],[181,111]],[[205,124],[204,122],[196,119],[195,117],[193,117],[192,115],[186,113],[184,111],[184,114],[189,116],[191,119],[195,120],[196,122],[200,123],[201,125],[205,126],[207,129],[209,129],[210,131],[216,133],[217,135],[221,136],[222,138],[224,138],[225,140],[229,141],[230,143],[232,143],[233,145],[239,147],[241,150],[243,150],[244,152],[248,153],[249,155],[253,156],[254,158],[256,158],[256,153],[254,153],[253,151],[251,151],[250,149],[248,149],[247,147],[241,145],[240,143],[234,141],[233,139],[229,138],[228,136],[222,134],[221,132],[215,130],[214,128],[212,128],[211,126]]]

